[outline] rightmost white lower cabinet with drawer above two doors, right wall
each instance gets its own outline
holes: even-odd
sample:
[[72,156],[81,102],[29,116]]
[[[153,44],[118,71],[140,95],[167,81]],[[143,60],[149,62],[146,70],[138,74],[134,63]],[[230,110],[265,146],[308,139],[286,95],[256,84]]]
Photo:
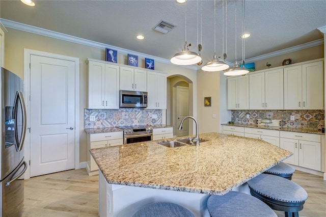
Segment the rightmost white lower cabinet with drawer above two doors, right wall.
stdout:
[[321,170],[320,135],[281,131],[280,137],[280,147],[293,153],[284,162],[313,170]]

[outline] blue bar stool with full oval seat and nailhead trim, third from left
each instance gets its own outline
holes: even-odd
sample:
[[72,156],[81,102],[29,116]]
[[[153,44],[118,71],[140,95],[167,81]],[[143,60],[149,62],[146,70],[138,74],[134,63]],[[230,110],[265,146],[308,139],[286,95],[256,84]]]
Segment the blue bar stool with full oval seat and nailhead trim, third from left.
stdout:
[[308,194],[300,185],[270,174],[260,174],[248,181],[250,194],[270,208],[284,211],[285,217],[299,216]]

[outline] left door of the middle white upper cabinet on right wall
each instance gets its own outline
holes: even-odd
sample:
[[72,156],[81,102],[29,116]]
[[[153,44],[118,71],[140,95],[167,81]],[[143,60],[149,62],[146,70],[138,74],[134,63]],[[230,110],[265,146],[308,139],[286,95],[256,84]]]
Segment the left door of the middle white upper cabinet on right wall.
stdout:
[[251,110],[265,109],[265,72],[249,75],[249,107]]

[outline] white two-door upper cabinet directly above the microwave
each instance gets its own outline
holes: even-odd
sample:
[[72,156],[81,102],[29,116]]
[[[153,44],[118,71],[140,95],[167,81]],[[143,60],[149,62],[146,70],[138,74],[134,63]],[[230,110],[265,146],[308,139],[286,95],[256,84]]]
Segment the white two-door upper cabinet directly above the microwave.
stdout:
[[120,90],[147,91],[147,71],[120,67]]

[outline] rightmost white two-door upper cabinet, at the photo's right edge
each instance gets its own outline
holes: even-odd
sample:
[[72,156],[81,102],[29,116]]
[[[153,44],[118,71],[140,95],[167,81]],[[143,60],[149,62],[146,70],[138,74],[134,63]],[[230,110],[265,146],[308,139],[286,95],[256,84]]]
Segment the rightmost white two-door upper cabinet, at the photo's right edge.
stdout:
[[323,61],[284,68],[284,109],[323,108]]

